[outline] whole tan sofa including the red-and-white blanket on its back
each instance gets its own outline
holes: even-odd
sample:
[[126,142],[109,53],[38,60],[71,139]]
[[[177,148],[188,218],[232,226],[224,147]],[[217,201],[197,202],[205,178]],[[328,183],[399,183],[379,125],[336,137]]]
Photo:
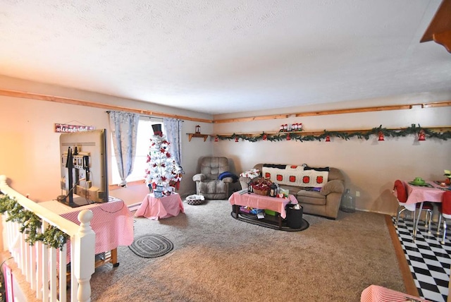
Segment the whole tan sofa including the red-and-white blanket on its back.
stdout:
[[[340,201],[345,191],[345,177],[336,168],[312,168],[307,164],[256,164],[259,177],[271,179],[280,188],[295,195],[304,213],[335,219],[338,216]],[[241,176],[242,189],[247,189],[251,181],[257,178]]]

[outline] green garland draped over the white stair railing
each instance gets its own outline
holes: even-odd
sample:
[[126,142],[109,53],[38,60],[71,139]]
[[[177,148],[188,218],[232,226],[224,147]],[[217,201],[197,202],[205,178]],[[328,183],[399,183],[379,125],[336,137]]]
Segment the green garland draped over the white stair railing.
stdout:
[[25,241],[33,246],[37,241],[42,241],[46,246],[63,249],[68,241],[68,235],[54,226],[49,226],[44,233],[41,232],[42,220],[35,213],[25,210],[16,198],[8,195],[0,197],[0,213],[8,214],[7,222],[18,222],[20,233],[27,234]]

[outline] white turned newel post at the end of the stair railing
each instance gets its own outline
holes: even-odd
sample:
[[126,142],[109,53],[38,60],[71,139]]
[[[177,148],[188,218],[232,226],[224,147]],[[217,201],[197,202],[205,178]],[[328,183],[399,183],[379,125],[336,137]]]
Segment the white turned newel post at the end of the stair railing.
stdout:
[[91,275],[94,274],[95,262],[95,239],[96,234],[92,231],[91,220],[94,214],[91,210],[82,210],[78,213],[80,229],[75,236],[74,265],[75,277],[78,280],[77,298],[80,302],[91,301]]

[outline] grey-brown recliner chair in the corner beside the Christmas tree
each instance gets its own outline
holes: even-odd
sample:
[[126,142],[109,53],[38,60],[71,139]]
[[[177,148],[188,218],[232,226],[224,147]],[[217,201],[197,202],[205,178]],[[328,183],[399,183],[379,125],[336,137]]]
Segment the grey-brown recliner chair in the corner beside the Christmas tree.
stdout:
[[219,179],[220,174],[227,172],[228,169],[227,157],[202,158],[200,173],[192,176],[192,180],[196,182],[197,195],[202,195],[206,199],[228,199],[228,187],[233,178]]

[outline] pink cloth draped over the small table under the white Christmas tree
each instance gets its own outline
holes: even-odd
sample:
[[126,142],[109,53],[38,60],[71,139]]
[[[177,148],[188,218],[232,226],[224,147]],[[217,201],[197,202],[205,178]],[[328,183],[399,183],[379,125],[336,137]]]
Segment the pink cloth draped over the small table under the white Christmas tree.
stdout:
[[135,217],[147,217],[149,219],[158,220],[159,218],[168,218],[177,216],[180,212],[185,213],[183,202],[178,193],[164,196],[162,198],[155,198],[154,194],[147,194],[138,210],[135,212]]

